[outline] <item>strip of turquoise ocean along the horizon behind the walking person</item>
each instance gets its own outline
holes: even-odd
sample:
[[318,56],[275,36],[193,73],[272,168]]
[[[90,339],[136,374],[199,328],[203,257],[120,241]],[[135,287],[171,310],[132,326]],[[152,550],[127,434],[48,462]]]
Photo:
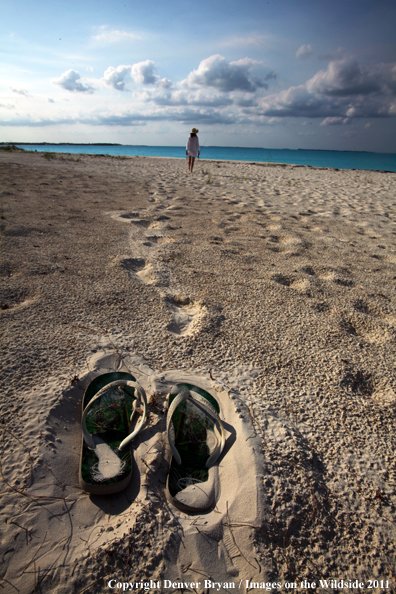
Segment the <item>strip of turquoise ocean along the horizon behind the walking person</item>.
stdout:
[[[183,159],[183,146],[137,146],[137,145],[95,145],[95,144],[17,144],[25,150],[56,153],[174,157]],[[396,153],[366,153],[352,151],[315,151],[306,149],[266,149],[222,146],[201,147],[201,159],[224,161],[252,161],[255,163],[289,163],[332,169],[360,169],[368,171],[396,172]]]

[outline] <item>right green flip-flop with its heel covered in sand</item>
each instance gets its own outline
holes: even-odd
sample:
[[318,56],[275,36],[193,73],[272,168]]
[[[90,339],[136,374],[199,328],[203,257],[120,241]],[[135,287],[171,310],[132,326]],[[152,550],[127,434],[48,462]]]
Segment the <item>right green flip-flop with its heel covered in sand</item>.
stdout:
[[225,445],[220,407],[209,392],[192,384],[177,384],[168,398],[172,460],[166,495],[179,509],[199,513],[216,499],[216,462]]

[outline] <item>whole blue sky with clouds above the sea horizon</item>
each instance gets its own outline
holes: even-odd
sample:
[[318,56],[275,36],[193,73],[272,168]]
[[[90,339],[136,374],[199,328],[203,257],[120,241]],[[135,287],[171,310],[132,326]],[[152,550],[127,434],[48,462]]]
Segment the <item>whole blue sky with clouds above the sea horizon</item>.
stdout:
[[0,0],[0,141],[396,153],[394,0]]

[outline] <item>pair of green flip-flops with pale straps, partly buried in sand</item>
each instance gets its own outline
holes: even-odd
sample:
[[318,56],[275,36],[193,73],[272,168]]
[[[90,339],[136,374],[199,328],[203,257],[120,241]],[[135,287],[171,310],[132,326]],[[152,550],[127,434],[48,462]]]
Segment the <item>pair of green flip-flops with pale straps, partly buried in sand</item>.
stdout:
[[[195,385],[177,384],[168,396],[166,434],[172,457],[166,496],[183,511],[204,511],[215,503],[217,461],[225,445],[219,413],[217,400]],[[129,484],[130,444],[146,417],[146,394],[131,374],[107,373],[91,382],[83,398],[80,486],[84,491],[111,494]]]

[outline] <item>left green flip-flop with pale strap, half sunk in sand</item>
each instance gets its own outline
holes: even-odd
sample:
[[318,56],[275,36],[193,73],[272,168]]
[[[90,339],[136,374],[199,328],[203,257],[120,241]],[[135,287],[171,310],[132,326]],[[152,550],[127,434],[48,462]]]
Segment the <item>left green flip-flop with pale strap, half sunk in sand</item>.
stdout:
[[147,417],[146,394],[130,373],[105,373],[89,384],[82,408],[80,487],[93,495],[117,493],[132,478],[129,446]]

